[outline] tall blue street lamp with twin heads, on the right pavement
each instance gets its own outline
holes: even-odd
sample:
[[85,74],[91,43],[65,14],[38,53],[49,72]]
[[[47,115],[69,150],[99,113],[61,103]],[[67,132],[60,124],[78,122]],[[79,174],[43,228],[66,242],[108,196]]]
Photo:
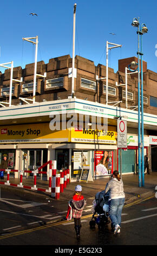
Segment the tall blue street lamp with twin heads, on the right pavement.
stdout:
[[[142,53],[142,35],[148,32],[145,23],[142,23],[140,30],[139,18],[133,19],[133,27],[138,27],[138,160],[139,160],[139,187],[141,187],[141,174],[142,186],[145,185],[145,170],[144,170],[144,126],[143,126],[143,53]],[[141,39],[141,49],[140,49]],[[140,127],[140,56],[141,56],[141,127]],[[141,154],[142,149],[142,154]],[[142,160],[142,161],[141,161]],[[142,164],[141,164],[142,163]]]

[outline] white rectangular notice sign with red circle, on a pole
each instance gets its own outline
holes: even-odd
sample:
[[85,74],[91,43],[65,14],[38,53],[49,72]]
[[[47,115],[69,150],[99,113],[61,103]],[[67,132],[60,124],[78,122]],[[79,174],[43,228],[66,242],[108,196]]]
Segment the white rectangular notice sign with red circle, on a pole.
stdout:
[[117,148],[127,148],[127,121],[117,120]]

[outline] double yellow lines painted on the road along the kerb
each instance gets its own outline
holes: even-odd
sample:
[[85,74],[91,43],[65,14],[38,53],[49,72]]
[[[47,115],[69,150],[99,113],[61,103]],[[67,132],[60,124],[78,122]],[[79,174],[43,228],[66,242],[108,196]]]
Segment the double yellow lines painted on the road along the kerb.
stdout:
[[[155,197],[155,196],[151,196],[151,197],[147,197],[147,198],[136,200],[136,201],[134,201],[134,202],[132,202],[130,204],[126,204],[125,206],[123,206],[123,208],[128,208],[129,206],[132,206],[134,204],[138,204],[138,203],[144,202],[144,201],[149,200],[149,199],[151,199],[153,197]],[[89,217],[92,217],[92,216],[93,216],[93,214],[82,216],[81,219],[89,218]],[[50,223],[50,224],[45,224],[43,227],[31,228],[31,229],[22,230],[22,231],[16,231],[16,232],[13,232],[13,233],[7,234],[7,235],[2,235],[2,236],[0,236],[0,240],[6,239],[6,238],[9,238],[9,237],[12,237],[12,236],[28,234],[28,233],[31,233],[31,232],[34,232],[34,231],[37,231],[37,230],[51,228],[51,227],[54,227],[54,226],[57,226],[57,225],[60,225],[60,224],[67,223],[67,222],[73,222],[73,219],[70,220],[70,221],[54,222],[54,223]]]

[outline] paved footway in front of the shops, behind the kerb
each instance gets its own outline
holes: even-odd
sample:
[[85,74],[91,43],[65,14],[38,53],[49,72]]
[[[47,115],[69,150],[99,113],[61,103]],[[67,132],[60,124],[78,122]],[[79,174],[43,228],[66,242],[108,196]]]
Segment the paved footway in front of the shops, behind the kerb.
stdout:
[[[145,185],[139,187],[139,176],[137,174],[122,174],[122,180],[124,184],[124,192],[125,192],[125,206],[127,207],[132,203],[140,202],[140,200],[155,197],[155,192],[157,192],[157,172],[151,172],[151,174],[145,174]],[[6,181],[6,177],[4,175],[4,180]],[[64,191],[60,193],[60,199],[56,200],[55,198],[51,197],[51,193],[43,192],[43,191],[34,191],[28,190],[25,188],[15,188],[16,190],[24,190],[25,192],[36,194],[41,197],[47,197],[51,200],[51,205],[55,206],[60,211],[65,211],[68,208],[68,201],[73,197],[75,186],[80,184],[82,186],[82,194],[84,198],[87,199],[87,206],[92,205],[92,202],[95,198],[95,194],[99,191],[104,190],[107,182],[109,181],[109,176],[102,179],[96,179],[94,181],[88,182],[70,182]],[[19,179],[14,179],[10,177],[11,184],[19,184]],[[23,179],[23,185],[33,187],[34,179],[32,177]],[[47,188],[48,189],[49,181],[41,180],[40,178],[37,179],[37,187],[40,188]],[[8,185],[1,185],[1,186],[8,186]],[[10,186],[8,186],[9,189]],[[156,187],[156,190],[155,190]],[[89,208],[88,208],[89,209]],[[88,212],[86,213],[86,215]],[[91,214],[91,212],[90,212]],[[65,214],[66,215],[66,214]],[[58,216],[55,221],[58,222],[62,219]],[[47,223],[48,224],[48,223]]]

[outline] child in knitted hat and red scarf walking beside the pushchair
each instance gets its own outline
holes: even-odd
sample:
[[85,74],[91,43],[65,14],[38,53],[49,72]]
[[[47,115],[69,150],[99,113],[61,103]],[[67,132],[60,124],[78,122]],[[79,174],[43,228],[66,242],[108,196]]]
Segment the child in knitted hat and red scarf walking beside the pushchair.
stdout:
[[81,229],[81,216],[84,206],[86,205],[86,199],[82,196],[82,187],[77,185],[75,187],[75,192],[73,199],[69,201],[67,220],[74,218],[75,231],[77,239],[80,239],[80,229]]

